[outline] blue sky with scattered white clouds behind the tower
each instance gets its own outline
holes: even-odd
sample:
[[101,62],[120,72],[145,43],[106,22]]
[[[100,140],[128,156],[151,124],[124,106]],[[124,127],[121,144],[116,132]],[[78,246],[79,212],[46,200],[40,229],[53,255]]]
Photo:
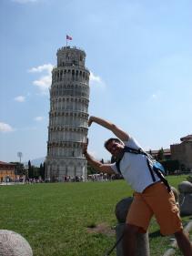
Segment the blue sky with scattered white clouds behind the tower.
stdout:
[[[89,114],[107,118],[143,148],[192,133],[191,0],[1,0],[0,160],[45,157],[48,87],[56,50],[86,51]],[[109,159],[104,128],[89,150]]]

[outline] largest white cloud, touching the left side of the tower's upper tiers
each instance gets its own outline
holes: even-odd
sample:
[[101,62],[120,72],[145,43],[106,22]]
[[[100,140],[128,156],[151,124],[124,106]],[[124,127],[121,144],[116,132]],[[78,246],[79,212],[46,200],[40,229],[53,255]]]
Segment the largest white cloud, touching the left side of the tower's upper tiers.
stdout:
[[43,93],[47,93],[48,88],[51,86],[51,81],[52,81],[52,69],[53,69],[52,64],[45,64],[42,66],[38,67],[32,67],[28,70],[30,73],[42,73],[45,72],[45,76],[42,76],[38,79],[36,79],[33,84],[38,87]]

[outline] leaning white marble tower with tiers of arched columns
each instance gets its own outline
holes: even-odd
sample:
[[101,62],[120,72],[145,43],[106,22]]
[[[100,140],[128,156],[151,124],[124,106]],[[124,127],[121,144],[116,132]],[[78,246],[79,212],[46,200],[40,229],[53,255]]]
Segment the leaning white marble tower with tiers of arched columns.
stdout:
[[57,50],[56,56],[50,88],[46,179],[85,180],[87,166],[82,142],[87,135],[90,75],[85,67],[86,53],[65,46]]

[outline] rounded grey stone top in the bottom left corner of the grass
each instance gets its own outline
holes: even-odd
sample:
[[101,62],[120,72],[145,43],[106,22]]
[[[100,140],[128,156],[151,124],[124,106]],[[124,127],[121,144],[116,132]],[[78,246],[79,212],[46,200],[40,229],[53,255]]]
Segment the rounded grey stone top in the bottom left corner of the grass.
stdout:
[[29,243],[12,230],[0,230],[1,256],[33,256]]

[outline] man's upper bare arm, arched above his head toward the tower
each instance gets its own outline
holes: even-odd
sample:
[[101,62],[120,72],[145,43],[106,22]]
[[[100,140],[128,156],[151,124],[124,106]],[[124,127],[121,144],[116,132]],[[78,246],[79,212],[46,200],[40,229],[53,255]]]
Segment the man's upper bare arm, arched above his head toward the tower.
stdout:
[[111,130],[116,135],[117,138],[120,138],[123,141],[126,141],[129,138],[128,134],[124,130],[116,127],[115,124],[113,124],[105,119],[96,118],[96,117],[92,116],[88,120],[88,126],[90,127],[93,122],[95,122],[96,124],[98,124],[104,128]]

